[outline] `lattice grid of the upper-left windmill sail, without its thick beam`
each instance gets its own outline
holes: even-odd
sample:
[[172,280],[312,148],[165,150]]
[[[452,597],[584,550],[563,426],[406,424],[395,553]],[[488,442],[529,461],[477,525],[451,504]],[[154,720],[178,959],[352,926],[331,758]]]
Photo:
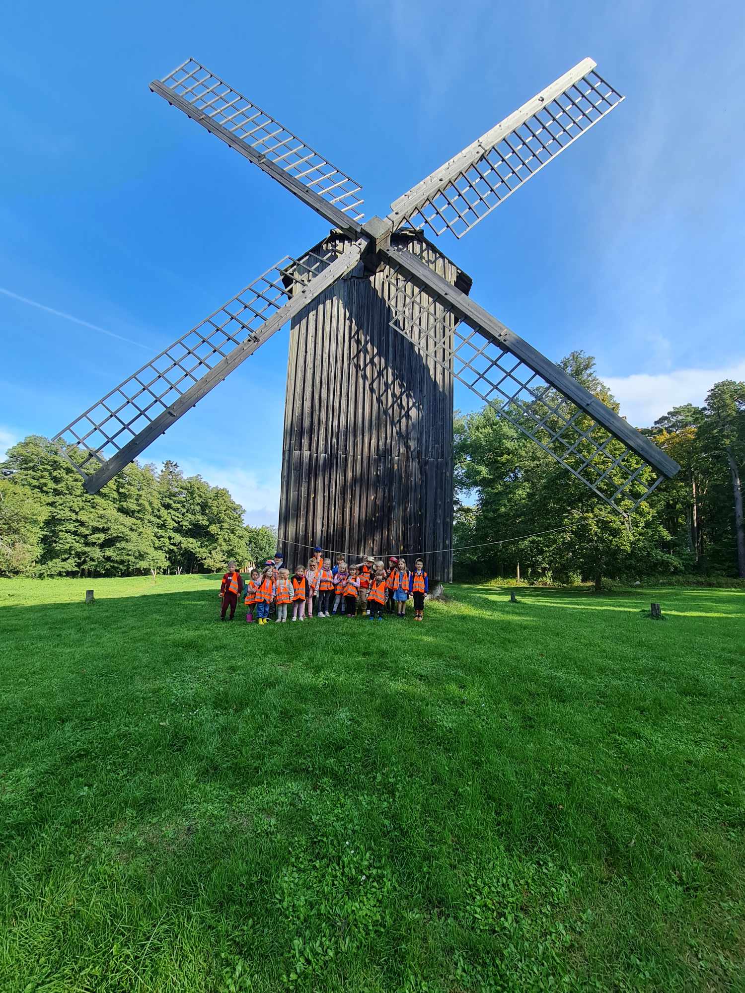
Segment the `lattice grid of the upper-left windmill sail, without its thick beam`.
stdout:
[[361,184],[337,169],[220,76],[194,59],[188,59],[160,81],[195,110],[212,118],[328,203],[355,220],[363,217],[359,209],[364,201],[358,197]]

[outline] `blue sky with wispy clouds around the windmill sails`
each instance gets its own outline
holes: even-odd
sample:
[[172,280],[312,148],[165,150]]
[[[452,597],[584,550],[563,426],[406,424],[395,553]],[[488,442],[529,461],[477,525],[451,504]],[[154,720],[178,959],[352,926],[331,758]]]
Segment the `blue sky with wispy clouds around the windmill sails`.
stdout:
[[[189,57],[362,182],[368,216],[592,57],[627,100],[439,245],[543,353],[596,355],[637,424],[745,378],[741,3],[14,4],[3,22],[0,454],[327,229],[149,92]],[[146,457],[275,522],[286,360],[285,330]],[[233,401],[260,430],[224,430]]]

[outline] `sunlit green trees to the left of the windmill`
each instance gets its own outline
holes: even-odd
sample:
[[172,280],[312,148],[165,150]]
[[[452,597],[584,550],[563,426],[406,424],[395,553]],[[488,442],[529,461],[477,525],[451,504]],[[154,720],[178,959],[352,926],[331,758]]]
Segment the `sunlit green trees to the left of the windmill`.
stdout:
[[0,575],[132,576],[215,572],[273,553],[271,527],[248,527],[243,508],[175,462],[132,463],[85,493],[77,453],[30,436],[0,463]]

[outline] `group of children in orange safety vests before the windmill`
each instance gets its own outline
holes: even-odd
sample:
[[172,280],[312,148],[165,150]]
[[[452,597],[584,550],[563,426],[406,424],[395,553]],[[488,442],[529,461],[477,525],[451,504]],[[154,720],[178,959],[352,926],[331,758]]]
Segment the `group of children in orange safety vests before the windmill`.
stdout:
[[387,569],[380,559],[368,555],[359,565],[348,566],[344,555],[337,555],[336,565],[329,568],[330,560],[324,559],[320,547],[313,549],[307,566],[299,565],[290,576],[284,558],[277,552],[267,559],[263,569],[252,569],[250,578],[243,584],[235,563],[227,563],[220,588],[223,599],[221,620],[229,609],[232,621],[241,592],[246,607],[248,624],[268,624],[272,605],[276,608],[275,624],[287,622],[287,608],[292,606],[292,620],[305,621],[328,618],[339,614],[347,618],[357,616],[371,621],[382,621],[383,609],[403,619],[409,597],[414,603],[414,621],[424,620],[424,596],[429,592],[429,581],[424,563],[417,559],[409,571],[403,559],[391,555]]

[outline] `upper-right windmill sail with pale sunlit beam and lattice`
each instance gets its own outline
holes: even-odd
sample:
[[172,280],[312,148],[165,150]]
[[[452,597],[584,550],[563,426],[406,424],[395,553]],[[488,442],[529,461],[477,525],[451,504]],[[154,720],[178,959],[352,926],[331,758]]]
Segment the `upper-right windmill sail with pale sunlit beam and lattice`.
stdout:
[[623,99],[583,60],[399,197],[388,219],[462,237]]

